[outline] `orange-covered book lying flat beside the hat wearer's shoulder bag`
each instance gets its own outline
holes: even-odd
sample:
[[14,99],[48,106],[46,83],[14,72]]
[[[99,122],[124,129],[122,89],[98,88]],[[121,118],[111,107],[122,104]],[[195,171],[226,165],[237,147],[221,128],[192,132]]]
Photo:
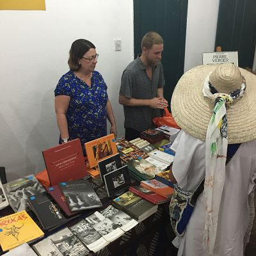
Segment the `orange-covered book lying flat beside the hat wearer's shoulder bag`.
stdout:
[[152,179],[152,180],[142,180],[140,182],[140,186],[143,188],[147,188],[150,191],[153,191],[161,196],[166,198],[170,198],[173,193],[173,188],[163,184],[159,180]]

